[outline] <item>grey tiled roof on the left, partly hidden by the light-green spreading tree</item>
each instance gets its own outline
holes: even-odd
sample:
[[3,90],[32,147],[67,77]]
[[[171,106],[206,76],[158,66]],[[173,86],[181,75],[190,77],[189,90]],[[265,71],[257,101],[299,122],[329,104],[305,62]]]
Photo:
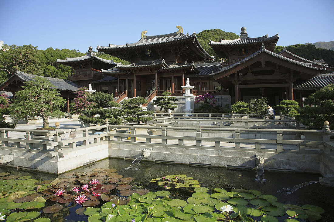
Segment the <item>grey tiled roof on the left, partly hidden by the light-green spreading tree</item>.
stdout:
[[[37,77],[36,75],[24,73],[21,71],[16,71],[14,75],[18,76],[24,82],[34,80],[34,78]],[[58,90],[76,91],[78,88],[82,87],[79,84],[76,84],[67,79],[58,79],[58,78],[51,78],[51,77],[45,77],[45,76],[39,76],[39,77],[43,79],[47,79],[51,84],[54,85],[54,88]]]

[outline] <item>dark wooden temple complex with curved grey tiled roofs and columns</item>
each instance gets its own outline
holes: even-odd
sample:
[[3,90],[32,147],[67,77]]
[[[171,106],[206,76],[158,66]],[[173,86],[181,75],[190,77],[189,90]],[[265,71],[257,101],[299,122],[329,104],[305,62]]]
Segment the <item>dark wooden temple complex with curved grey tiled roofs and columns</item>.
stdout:
[[[57,62],[74,69],[67,81],[76,87],[92,83],[94,90],[114,93],[117,101],[136,96],[150,100],[163,91],[182,95],[181,86],[190,78],[194,95],[229,95],[232,103],[267,97],[272,106],[292,99],[302,105],[303,98],[319,87],[334,83],[334,74],[324,74],[332,67],[323,60],[307,60],[287,50],[274,53],[278,34],[251,38],[242,27],[238,39],[210,41],[210,47],[223,58],[213,62],[214,56],[203,49],[196,33],[184,34],[181,26],[176,28],[177,32],[155,36],[143,31],[138,42],[96,48],[129,65],[99,58],[92,47],[85,56]],[[12,86],[17,81],[18,77],[10,78],[0,90],[15,92]]]

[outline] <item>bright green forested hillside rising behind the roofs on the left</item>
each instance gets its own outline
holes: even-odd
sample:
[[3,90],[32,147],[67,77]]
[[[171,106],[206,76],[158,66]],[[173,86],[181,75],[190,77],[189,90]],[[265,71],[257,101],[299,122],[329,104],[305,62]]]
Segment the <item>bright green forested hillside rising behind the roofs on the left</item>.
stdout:
[[[73,69],[58,64],[56,59],[85,55],[74,49],[60,50],[50,47],[45,50],[38,50],[37,46],[33,45],[3,45],[2,47],[3,50],[0,50],[0,84],[11,77],[16,69],[33,75],[66,79],[67,74],[73,73]],[[104,59],[114,59],[114,62],[129,64],[127,61],[104,53],[98,53],[98,56]]]

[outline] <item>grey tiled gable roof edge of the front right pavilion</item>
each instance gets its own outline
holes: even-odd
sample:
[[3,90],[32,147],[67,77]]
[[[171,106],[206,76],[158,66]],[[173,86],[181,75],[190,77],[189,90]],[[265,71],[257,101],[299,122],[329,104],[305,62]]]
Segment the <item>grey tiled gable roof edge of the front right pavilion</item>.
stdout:
[[246,58],[240,60],[239,62],[236,62],[236,63],[234,63],[234,64],[232,64],[232,65],[230,65],[230,66],[221,68],[220,71],[214,73],[214,75],[215,75],[215,74],[218,74],[218,73],[221,73],[221,72],[224,72],[224,71],[226,71],[226,70],[229,70],[229,69],[231,69],[231,68],[233,68],[233,67],[236,67],[236,66],[238,66],[238,65],[240,65],[240,64],[242,64],[242,63],[248,61],[249,59],[254,58],[255,56],[257,56],[257,55],[259,55],[259,54],[261,54],[261,53],[267,53],[267,54],[269,54],[269,55],[275,56],[276,58],[279,58],[279,59],[282,59],[282,60],[285,60],[285,61],[288,61],[288,62],[297,64],[297,65],[301,65],[301,66],[304,66],[304,67],[308,67],[308,68],[311,68],[311,69],[323,70],[323,69],[321,69],[321,68],[317,68],[317,67],[313,67],[313,66],[311,66],[312,63],[298,62],[298,61],[296,61],[296,60],[289,59],[289,58],[287,58],[287,57],[284,57],[284,56],[281,56],[281,55],[279,55],[279,54],[276,54],[276,53],[274,53],[274,52],[272,52],[272,51],[269,51],[269,50],[267,50],[267,49],[260,49],[259,51],[257,51],[257,52],[255,52],[255,53],[253,53],[252,55],[250,55],[250,56],[248,56],[248,57],[246,57]]

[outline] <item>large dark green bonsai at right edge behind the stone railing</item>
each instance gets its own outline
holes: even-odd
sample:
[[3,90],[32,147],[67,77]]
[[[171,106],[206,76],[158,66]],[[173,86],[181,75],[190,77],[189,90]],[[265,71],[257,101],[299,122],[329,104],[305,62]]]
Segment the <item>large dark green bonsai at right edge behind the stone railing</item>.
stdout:
[[[312,106],[311,106],[312,105]],[[312,93],[298,109],[300,122],[312,129],[321,129],[324,121],[334,123],[334,85]]]

